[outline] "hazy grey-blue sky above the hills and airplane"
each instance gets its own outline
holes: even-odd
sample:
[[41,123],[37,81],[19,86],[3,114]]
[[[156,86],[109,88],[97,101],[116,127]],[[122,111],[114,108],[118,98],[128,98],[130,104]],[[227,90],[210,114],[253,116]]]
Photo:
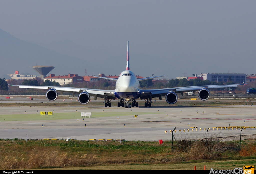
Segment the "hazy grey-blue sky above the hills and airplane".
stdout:
[[[141,76],[252,74],[255,9],[256,1],[8,0],[0,1],[0,28],[62,54],[90,59],[85,65],[90,75],[124,70],[128,40],[131,70]],[[67,49],[68,43],[78,51]]]

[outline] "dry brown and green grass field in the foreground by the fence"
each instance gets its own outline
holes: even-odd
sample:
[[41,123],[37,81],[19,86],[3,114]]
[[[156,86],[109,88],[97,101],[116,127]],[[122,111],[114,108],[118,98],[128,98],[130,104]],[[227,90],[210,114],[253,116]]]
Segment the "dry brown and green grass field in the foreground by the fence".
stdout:
[[[250,140],[255,143],[255,140]],[[254,165],[256,146],[208,141],[0,140],[0,169],[206,170]]]

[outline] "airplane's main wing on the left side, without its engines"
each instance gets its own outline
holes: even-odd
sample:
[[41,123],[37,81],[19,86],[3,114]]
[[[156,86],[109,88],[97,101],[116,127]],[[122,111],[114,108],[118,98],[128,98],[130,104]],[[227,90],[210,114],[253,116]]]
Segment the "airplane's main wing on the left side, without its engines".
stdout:
[[[8,84],[10,85],[10,84]],[[61,94],[63,92],[70,92],[80,94],[83,91],[89,93],[90,96],[97,94],[97,97],[104,98],[105,95],[110,96],[109,99],[115,100],[115,90],[100,90],[100,89],[87,89],[87,88],[72,88],[72,87],[62,87],[62,86],[25,86],[25,85],[10,85],[10,86],[19,86],[19,88],[30,88],[30,89],[55,89]]]

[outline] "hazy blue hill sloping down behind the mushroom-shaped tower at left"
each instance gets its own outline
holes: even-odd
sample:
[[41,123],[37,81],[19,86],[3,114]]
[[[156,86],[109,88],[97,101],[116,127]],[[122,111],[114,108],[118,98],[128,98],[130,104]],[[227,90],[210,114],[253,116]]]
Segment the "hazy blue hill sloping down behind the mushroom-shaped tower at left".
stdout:
[[[85,62],[82,59],[62,55],[37,44],[15,38],[10,33],[0,29],[0,78],[8,78],[19,70],[20,74],[39,74],[32,68],[37,65],[50,65],[55,68],[50,73],[65,75],[78,73],[84,75]],[[64,73],[64,74],[63,74]]]

